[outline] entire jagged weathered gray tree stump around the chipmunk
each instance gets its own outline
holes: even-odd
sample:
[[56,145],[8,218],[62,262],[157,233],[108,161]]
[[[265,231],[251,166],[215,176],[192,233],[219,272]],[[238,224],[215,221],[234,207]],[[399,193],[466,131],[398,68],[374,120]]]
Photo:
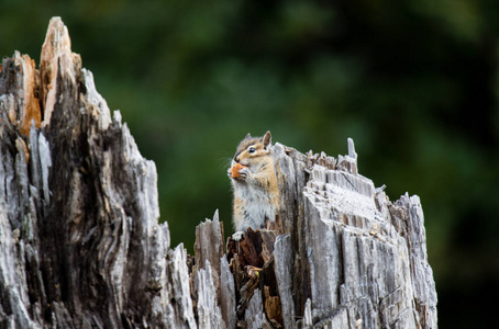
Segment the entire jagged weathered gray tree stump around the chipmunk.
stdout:
[[[159,225],[156,168],[51,21],[40,70],[0,70],[1,328],[436,328],[418,196],[390,202],[337,160],[276,144],[281,209],[195,257]],[[230,218],[230,214],[223,214]]]

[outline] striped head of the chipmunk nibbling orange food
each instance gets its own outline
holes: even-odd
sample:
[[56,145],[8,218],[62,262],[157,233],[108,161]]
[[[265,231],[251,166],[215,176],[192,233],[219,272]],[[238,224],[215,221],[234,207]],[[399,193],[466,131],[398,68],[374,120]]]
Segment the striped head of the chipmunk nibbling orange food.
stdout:
[[[265,157],[270,157],[271,136],[267,132],[262,137],[252,137],[250,134],[241,140],[235,150],[232,164],[240,163],[248,168],[260,167],[265,162]],[[257,166],[260,164],[260,166]]]

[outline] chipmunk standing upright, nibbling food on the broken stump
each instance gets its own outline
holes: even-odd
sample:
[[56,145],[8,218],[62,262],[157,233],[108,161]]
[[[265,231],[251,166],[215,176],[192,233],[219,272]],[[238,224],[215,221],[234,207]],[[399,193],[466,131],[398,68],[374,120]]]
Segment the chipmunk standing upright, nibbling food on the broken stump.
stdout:
[[270,139],[270,132],[262,137],[247,134],[228,170],[234,190],[234,240],[240,240],[248,227],[258,229],[265,220],[274,222],[279,209]]

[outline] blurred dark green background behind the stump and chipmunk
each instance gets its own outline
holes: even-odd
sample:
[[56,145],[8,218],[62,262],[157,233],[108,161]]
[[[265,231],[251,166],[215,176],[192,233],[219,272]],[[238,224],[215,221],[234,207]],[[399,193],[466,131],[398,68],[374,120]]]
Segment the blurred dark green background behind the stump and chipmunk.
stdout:
[[496,324],[499,2],[0,1],[0,54],[73,50],[156,162],[162,220],[192,250],[246,133],[336,156],[391,200],[421,196],[441,328]]

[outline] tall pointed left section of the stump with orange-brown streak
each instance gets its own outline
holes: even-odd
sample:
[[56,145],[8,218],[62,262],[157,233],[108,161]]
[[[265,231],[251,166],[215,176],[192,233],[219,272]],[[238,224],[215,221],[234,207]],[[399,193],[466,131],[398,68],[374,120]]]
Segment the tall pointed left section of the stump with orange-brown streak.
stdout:
[[41,57],[40,71],[16,53],[0,72],[0,327],[196,327],[154,162],[111,118],[60,19]]

